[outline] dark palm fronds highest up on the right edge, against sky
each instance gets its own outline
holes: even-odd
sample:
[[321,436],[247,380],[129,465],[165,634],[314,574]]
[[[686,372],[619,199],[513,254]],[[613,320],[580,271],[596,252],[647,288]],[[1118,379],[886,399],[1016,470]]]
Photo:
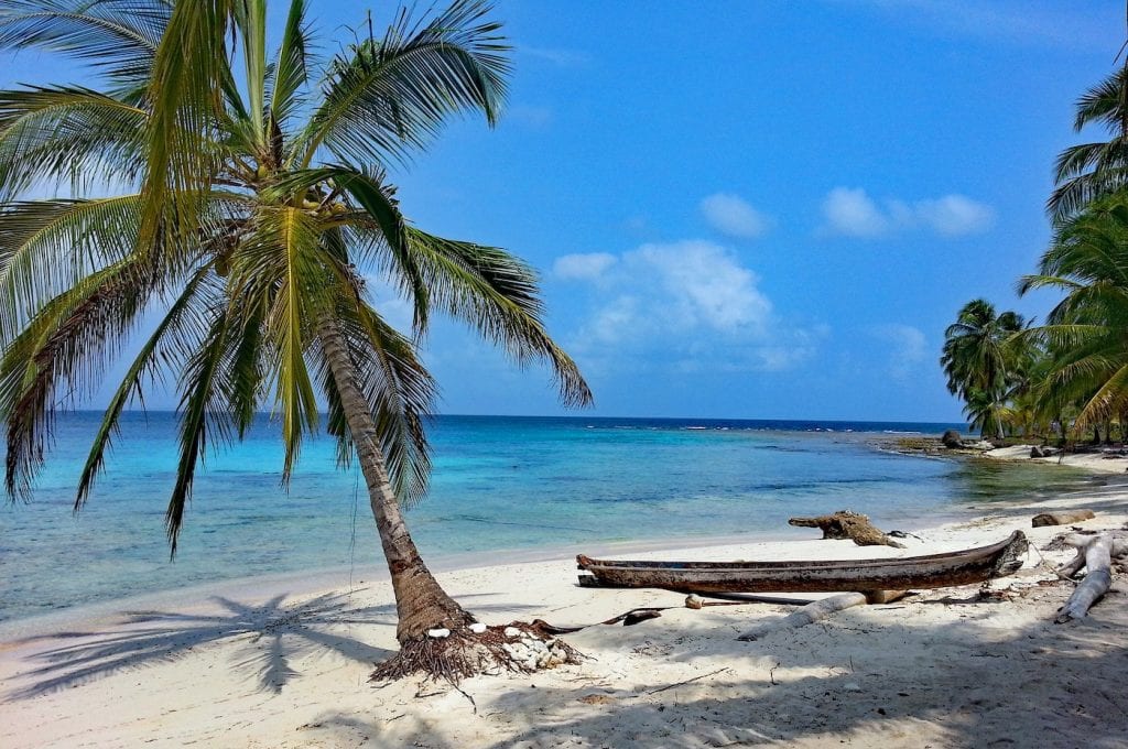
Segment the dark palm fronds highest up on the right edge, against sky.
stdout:
[[1077,99],[1074,131],[1091,124],[1103,125],[1109,140],[1072,146],[1058,156],[1057,186],[1046,204],[1055,223],[1128,185],[1128,60]]

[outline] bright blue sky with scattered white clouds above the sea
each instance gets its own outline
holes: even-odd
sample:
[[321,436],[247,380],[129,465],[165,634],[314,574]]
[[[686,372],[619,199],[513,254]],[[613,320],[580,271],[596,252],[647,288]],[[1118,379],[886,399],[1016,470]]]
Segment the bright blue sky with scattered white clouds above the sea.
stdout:
[[[315,3],[323,45],[370,5]],[[500,0],[495,15],[515,46],[502,123],[457,122],[393,174],[420,226],[538,268],[599,415],[958,420],[943,329],[980,296],[1052,303],[1014,283],[1049,235],[1073,102],[1125,36],[1111,0]],[[80,76],[26,53],[0,74]],[[545,370],[456,325],[426,360],[443,412],[563,413]]]

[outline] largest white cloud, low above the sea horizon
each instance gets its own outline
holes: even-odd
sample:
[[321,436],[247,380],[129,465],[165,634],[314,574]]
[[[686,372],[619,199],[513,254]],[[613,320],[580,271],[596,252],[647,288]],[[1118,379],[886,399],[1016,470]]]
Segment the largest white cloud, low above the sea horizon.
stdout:
[[567,344],[585,368],[778,371],[813,355],[823,335],[781,320],[756,273],[711,241],[646,244],[594,264],[584,276],[593,307]]

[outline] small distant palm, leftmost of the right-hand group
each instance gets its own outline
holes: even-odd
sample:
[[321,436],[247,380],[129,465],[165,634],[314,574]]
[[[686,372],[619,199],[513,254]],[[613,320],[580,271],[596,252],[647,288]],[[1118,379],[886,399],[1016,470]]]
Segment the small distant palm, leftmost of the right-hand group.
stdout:
[[1004,406],[1019,384],[1022,352],[1012,341],[1026,326],[1017,312],[995,314],[985,299],[964,305],[955,323],[944,331],[940,363],[948,376],[948,389],[967,404],[972,428],[1003,438]]

